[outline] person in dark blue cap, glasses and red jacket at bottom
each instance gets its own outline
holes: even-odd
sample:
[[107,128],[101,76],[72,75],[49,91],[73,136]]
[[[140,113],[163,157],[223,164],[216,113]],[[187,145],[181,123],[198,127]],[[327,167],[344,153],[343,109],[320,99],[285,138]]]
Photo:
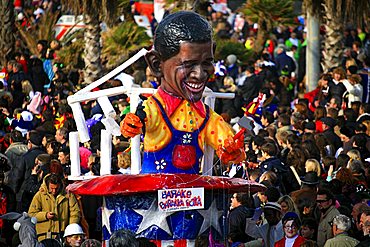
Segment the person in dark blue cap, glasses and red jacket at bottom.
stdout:
[[295,212],[287,212],[283,219],[284,237],[275,243],[275,247],[298,247],[306,240],[300,236],[301,220]]

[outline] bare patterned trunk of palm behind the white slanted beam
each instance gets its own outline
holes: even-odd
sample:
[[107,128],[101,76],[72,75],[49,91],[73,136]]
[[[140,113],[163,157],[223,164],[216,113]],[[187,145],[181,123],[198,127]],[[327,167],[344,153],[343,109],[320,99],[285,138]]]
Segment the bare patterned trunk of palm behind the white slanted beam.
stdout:
[[[93,11],[92,11],[93,12]],[[102,74],[99,12],[84,15],[86,25],[84,32],[84,81],[87,84],[97,80]]]

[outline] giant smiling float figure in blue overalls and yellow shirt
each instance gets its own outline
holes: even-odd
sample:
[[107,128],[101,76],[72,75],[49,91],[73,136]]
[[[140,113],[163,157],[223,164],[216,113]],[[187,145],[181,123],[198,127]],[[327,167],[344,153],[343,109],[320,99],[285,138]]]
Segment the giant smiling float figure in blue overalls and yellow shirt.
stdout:
[[204,144],[223,164],[245,159],[243,136],[234,139],[230,126],[201,101],[214,72],[213,51],[212,27],[200,15],[181,11],[159,23],[146,60],[160,87],[143,102],[144,120],[130,113],[121,122],[126,137],[145,129],[141,173],[199,174]]

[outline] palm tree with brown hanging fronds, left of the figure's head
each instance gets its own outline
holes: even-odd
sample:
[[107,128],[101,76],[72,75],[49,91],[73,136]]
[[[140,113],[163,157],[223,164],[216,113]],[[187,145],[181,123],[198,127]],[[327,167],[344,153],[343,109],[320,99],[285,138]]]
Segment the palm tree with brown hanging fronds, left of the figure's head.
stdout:
[[[103,71],[100,45],[100,23],[106,21],[111,26],[117,19],[119,1],[117,0],[62,0],[62,5],[74,14],[83,14],[86,25],[84,31],[84,80],[91,83]],[[82,6],[82,7],[81,7]]]

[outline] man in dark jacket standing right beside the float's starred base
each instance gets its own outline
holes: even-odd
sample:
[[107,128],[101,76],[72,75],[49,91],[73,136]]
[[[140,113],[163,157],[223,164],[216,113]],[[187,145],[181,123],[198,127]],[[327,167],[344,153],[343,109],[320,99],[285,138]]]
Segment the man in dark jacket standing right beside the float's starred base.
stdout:
[[245,233],[246,219],[253,216],[253,213],[246,207],[248,195],[245,193],[234,193],[231,197],[229,213],[229,242],[236,246],[237,243],[246,243],[251,239]]

